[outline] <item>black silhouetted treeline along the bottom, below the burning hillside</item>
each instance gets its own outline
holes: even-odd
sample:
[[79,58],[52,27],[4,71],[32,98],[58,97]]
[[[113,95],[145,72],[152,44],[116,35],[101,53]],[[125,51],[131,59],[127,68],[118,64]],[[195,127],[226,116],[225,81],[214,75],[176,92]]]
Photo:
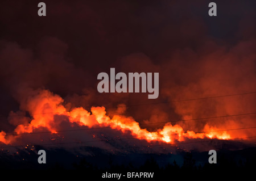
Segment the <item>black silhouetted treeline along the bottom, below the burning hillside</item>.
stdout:
[[117,180],[117,178],[102,178],[102,174],[106,174],[106,172],[111,174],[121,173],[122,175],[127,175],[127,172],[154,172],[153,178],[122,177],[119,180],[171,180],[174,176],[183,179],[197,178],[198,176],[217,178],[220,175],[236,177],[237,175],[254,174],[256,169],[255,153],[256,148],[217,151],[217,163],[210,164],[208,163],[208,153],[196,151],[183,151],[176,160],[169,159],[172,158],[172,154],[128,154],[120,157],[120,155],[98,153],[93,157],[82,157],[59,149],[47,150],[47,163],[39,164],[37,162],[38,155],[35,151],[20,150],[15,155],[9,155],[2,151],[0,154],[0,169],[18,172],[20,170],[23,172],[33,170],[33,172],[44,172],[44,175],[49,172],[53,175],[58,174],[59,177],[67,174],[86,175],[96,180]]

